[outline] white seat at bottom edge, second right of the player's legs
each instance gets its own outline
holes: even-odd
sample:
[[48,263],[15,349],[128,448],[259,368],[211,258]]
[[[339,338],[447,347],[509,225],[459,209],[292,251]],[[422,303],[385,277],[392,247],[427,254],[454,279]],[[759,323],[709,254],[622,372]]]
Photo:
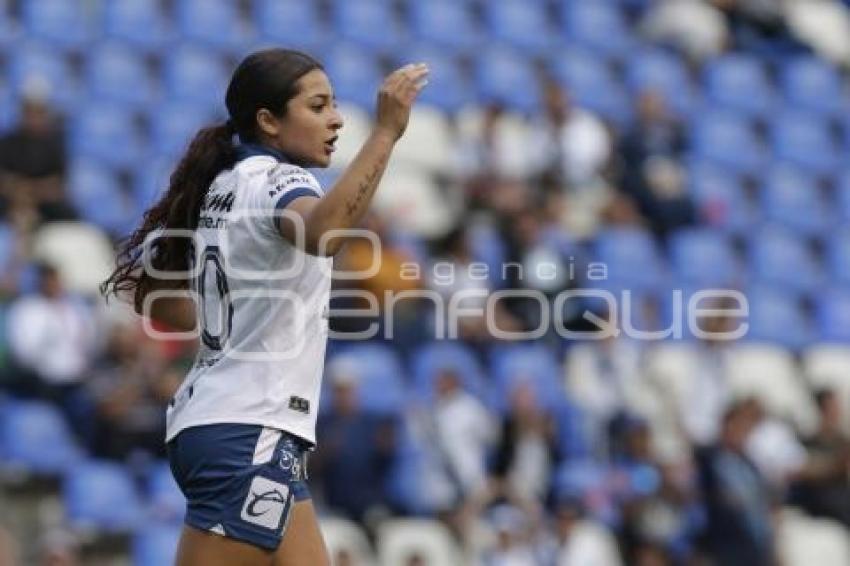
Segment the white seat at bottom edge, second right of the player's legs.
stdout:
[[460,549],[448,528],[432,519],[392,519],[378,527],[380,564],[409,564],[420,556],[424,564],[462,564]]

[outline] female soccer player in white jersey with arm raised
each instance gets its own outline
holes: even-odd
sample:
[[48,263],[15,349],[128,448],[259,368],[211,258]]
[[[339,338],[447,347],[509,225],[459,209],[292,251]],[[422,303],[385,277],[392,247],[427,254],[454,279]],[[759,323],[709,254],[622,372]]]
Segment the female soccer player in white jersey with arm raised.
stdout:
[[344,238],[325,240],[366,212],[427,75],[418,64],[386,78],[371,135],[325,194],[302,169],[328,166],[343,125],[322,66],[284,49],[248,56],[227,89],[230,119],[197,134],[123,245],[104,293],[201,334],[168,409],[188,502],[178,566],[329,564],[304,482],[329,256]]

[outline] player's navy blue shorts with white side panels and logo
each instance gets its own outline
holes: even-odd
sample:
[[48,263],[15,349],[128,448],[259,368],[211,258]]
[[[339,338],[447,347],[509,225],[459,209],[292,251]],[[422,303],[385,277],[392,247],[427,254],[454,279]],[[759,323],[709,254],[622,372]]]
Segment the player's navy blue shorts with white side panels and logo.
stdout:
[[294,502],[310,498],[306,440],[244,424],[187,428],[168,443],[186,524],[274,550]]

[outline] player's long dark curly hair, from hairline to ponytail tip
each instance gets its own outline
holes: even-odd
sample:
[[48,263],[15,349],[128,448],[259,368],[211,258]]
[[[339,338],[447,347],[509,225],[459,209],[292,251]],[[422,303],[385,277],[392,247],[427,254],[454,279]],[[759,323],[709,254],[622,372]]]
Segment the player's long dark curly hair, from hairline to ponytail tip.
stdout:
[[132,296],[139,311],[145,296],[157,285],[185,288],[187,281],[163,281],[144,269],[142,251],[148,238],[151,265],[160,271],[186,272],[191,261],[188,238],[156,237],[166,230],[195,230],[201,204],[218,174],[233,167],[236,146],[257,142],[257,112],[266,108],[281,117],[289,100],[298,94],[297,81],[322,65],[305,53],[290,49],[267,49],[246,57],[233,72],[225,104],[230,119],[202,128],[177,164],[168,190],[148,209],[141,225],[119,245],[116,267],[100,286],[105,297]]

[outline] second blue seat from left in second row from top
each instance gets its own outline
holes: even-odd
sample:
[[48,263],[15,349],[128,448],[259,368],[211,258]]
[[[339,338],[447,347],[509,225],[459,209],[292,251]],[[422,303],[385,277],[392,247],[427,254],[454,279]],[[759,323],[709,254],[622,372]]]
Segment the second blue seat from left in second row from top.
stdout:
[[86,61],[87,95],[132,107],[151,104],[153,78],[138,51],[120,43],[102,43]]

